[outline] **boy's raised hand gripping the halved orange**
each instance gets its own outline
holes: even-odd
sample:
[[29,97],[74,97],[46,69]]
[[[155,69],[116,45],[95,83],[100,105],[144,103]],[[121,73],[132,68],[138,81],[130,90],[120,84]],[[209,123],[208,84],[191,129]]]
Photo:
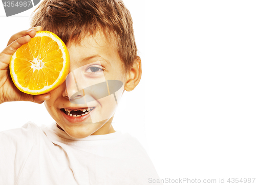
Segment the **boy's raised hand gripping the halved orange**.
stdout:
[[23,44],[28,43],[36,35],[37,31],[41,30],[42,27],[38,26],[14,34],[11,36],[7,47],[0,52],[0,104],[6,101],[32,101],[42,103],[44,100],[50,99],[50,93],[30,95],[19,91],[12,82],[9,70],[12,54]]

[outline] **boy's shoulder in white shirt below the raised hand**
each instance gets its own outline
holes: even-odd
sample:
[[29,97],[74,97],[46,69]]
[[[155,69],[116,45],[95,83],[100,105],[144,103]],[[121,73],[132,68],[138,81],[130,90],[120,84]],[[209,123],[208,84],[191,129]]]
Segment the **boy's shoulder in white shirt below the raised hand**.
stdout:
[[14,184],[29,157],[40,128],[32,122],[20,128],[0,132],[1,184]]

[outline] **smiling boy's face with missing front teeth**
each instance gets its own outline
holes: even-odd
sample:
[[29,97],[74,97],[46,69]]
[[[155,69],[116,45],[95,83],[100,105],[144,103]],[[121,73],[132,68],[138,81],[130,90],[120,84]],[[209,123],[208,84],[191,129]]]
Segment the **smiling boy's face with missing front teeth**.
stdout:
[[[73,138],[114,132],[111,122],[126,80],[115,43],[97,32],[84,38],[81,45],[70,44],[68,50],[70,73],[66,82],[53,90],[51,98],[45,101],[47,111]],[[106,81],[119,82],[119,86],[121,83],[115,96],[100,96],[103,86],[110,88]]]

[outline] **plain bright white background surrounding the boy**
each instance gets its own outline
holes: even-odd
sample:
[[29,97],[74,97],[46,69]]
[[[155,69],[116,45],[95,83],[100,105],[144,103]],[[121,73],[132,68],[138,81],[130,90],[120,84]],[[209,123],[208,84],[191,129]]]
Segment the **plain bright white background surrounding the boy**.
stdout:
[[[255,1],[124,4],[143,72],[114,128],[139,139],[162,179],[256,177]],[[0,4],[1,50],[31,12],[5,17]],[[44,104],[6,102],[0,112],[0,130],[54,121]]]

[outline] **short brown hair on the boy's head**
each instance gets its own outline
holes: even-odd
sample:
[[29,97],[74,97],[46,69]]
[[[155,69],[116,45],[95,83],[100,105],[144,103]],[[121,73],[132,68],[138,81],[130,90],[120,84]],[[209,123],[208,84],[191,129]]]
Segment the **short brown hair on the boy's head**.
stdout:
[[137,56],[133,20],[121,0],[44,0],[32,13],[31,27],[55,33],[68,45],[104,32],[114,35],[120,59],[128,72]]

